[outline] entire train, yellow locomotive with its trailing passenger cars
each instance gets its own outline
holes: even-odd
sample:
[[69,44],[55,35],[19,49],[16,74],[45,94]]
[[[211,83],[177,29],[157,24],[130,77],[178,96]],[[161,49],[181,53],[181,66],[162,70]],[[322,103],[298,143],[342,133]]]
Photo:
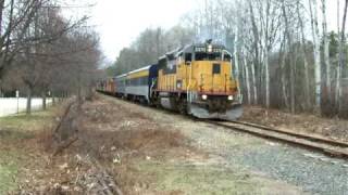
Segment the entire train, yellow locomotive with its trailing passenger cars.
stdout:
[[243,98],[233,55],[223,44],[189,44],[156,64],[100,81],[97,90],[203,119],[235,120]]

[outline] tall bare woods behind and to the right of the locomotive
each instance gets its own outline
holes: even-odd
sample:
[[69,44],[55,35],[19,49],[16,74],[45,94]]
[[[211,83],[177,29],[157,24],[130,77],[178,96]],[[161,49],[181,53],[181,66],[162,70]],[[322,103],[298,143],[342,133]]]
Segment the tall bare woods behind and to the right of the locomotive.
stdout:
[[[183,18],[182,30],[189,31],[184,44],[213,38],[227,46],[245,103],[348,117],[347,1],[207,0]],[[328,30],[327,3],[334,2],[338,28]],[[148,29],[124,49],[116,73],[156,62],[158,54],[173,49],[153,52],[169,43],[148,31],[157,35]],[[181,36],[174,37],[173,47],[178,40]]]

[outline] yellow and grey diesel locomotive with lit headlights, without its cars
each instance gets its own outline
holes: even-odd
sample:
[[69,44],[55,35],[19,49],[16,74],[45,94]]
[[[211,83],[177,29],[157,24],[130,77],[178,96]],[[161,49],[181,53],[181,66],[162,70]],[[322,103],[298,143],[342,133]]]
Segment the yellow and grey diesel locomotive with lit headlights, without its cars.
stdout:
[[157,66],[150,87],[150,100],[157,105],[198,118],[241,116],[239,83],[224,46],[211,41],[188,46],[165,54]]

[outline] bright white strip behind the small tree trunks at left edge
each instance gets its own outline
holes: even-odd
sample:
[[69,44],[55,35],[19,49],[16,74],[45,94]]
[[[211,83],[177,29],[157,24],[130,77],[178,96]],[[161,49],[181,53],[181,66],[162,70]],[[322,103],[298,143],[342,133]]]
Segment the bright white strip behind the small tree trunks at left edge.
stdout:
[[[51,103],[51,99],[47,99],[47,104]],[[42,99],[32,100],[32,109],[38,110],[42,108]],[[0,98],[0,117],[16,114],[17,109],[24,112],[26,109],[26,99],[2,99]]]

